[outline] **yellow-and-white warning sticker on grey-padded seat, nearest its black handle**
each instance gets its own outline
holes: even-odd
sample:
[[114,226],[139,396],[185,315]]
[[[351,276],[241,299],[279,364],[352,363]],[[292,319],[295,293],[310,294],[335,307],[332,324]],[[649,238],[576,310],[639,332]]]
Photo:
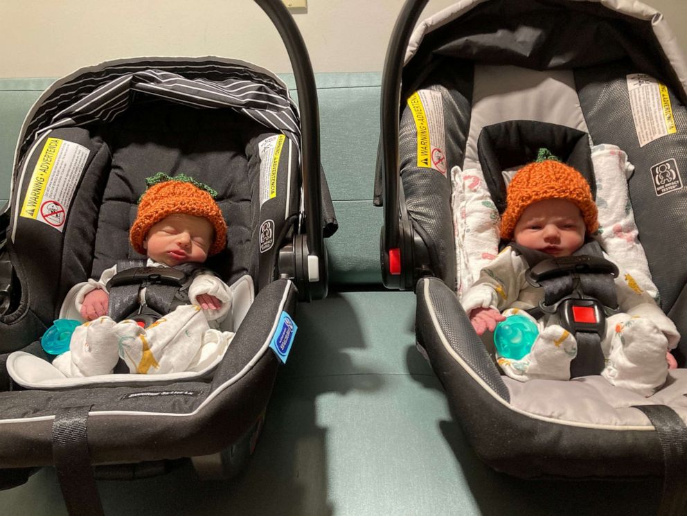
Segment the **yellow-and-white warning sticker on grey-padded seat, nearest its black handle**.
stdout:
[[446,175],[444,107],[441,94],[420,89],[408,99],[418,131],[418,167],[434,168]]

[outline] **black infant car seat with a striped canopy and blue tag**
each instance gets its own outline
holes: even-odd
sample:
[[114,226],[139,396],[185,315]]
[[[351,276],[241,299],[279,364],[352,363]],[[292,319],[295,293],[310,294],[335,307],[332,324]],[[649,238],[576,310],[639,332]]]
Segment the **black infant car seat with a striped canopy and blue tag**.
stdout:
[[[326,294],[323,237],[337,228],[303,40],[280,1],[259,3],[292,56],[300,113],[276,75],[220,57],[106,62],[58,80],[30,110],[2,215],[4,488],[54,464],[70,512],[93,514],[91,465],[107,478],[134,478],[194,457],[199,471],[229,475],[251,452],[277,355],[295,332],[296,301]],[[206,265],[233,285],[235,300],[221,328],[235,336],[221,362],[158,376],[26,371],[26,360],[48,365],[33,356],[47,358],[37,339],[72,285],[141,258],[128,229],[145,178],[157,172],[217,190],[226,249]]]

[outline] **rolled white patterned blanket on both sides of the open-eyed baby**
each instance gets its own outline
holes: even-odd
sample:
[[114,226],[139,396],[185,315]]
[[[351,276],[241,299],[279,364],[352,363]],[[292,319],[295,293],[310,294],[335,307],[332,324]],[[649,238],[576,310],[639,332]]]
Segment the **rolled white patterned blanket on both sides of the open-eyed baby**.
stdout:
[[[596,176],[599,230],[593,235],[610,258],[625,269],[637,287],[658,301],[639,231],[634,222],[627,179],[634,166],[616,145],[595,145],[591,161]],[[452,168],[453,219],[458,297],[479,278],[479,272],[499,253],[500,217],[479,168]],[[512,171],[504,172],[510,181]]]

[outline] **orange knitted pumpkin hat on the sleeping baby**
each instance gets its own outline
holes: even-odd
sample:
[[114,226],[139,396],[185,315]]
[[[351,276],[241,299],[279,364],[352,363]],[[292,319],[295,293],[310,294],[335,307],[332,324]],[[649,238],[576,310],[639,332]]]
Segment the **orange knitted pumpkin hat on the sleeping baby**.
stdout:
[[145,182],[148,184],[148,190],[145,190],[139,199],[139,213],[129,231],[129,240],[137,252],[145,254],[143,240],[150,228],[175,213],[195,215],[209,220],[215,229],[215,239],[208,255],[212,256],[224,249],[226,222],[220,206],[215,202],[215,190],[184,174],[170,177],[158,172],[153,177],[145,179]]

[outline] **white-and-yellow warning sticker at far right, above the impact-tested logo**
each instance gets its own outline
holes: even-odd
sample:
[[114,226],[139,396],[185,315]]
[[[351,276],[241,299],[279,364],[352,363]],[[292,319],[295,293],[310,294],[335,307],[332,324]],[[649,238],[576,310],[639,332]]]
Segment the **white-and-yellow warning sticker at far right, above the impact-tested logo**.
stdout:
[[645,73],[631,73],[627,91],[640,147],[677,132],[666,84]]

